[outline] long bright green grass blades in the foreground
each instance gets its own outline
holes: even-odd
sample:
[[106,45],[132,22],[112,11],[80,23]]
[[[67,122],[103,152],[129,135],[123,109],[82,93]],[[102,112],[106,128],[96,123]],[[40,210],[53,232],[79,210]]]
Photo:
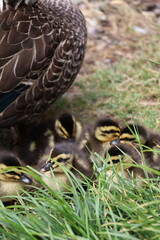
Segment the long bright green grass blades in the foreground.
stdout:
[[105,165],[96,179],[86,182],[86,191],[74,178],[70,194],[35,188],[18,196],[16,205],[1,203],[0,239],[160,239],[157,181],[138,187],[118,177],[113,183]]

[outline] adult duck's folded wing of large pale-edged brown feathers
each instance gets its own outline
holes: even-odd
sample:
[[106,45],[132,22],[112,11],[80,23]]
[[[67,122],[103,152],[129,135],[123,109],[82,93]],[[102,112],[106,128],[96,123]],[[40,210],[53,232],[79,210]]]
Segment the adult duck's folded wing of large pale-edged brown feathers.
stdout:
[[31,85],[45,69],[48,58],[54,55],[54,29],[40,14],[32,16],[31,10],[30,7],[21,7],[0,15],[2,93],[11,91],[20,83]]

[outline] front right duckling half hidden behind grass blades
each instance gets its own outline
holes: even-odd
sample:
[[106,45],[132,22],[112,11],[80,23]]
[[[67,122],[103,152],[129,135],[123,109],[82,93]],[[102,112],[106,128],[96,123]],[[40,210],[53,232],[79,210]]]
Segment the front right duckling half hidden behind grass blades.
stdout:
[[[118,175],[123,176],[126,179],[131,179],[133,176],[135,179],[137,179],[137,184],[139,186],[143,185],[145,178],[143,169],[139,168],[138,166],[132,166],[133,164],[138,164],[141,166],[143,165],[142,155],[135,147],[129,146],[128,144],[117,144],[109,149],[108,154],[108,164],[115,164]],[[152,164],[148,164],[147,167],[154,168]],[[107,170],[108,169],[109,167]],[[112,170],[109,170],[107,175],[110,176],[111,173],[113,173]],[[154,177],[155,174],[149,172],[148,176]],[[116,177],[114,177],[113,180],[117,182]]]

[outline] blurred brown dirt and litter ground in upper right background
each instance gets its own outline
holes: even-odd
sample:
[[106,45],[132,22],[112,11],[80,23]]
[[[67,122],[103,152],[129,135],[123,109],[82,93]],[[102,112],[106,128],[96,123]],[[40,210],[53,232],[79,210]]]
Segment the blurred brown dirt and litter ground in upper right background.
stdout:
[[133,59],[160,25],[159,0],[77,0],[88,29],[81,74]]

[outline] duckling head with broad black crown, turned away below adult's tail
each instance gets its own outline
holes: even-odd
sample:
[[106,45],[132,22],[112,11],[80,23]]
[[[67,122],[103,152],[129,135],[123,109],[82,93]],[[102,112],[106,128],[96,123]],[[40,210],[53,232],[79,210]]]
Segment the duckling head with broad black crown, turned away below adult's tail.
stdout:
[[55,130],[63,139],[78,138],[82,127],[72,114],[63,113],[55,121]]

